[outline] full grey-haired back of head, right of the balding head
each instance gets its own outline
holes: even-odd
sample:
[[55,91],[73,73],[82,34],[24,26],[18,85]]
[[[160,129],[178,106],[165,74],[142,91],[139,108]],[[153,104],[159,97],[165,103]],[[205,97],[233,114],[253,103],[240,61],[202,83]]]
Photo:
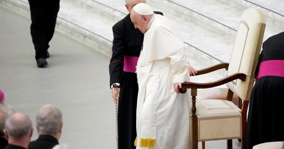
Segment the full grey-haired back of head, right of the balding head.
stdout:
[[54,105],[41,107],[36,115],[39,134],[57,135],[62,123],[62,113]]

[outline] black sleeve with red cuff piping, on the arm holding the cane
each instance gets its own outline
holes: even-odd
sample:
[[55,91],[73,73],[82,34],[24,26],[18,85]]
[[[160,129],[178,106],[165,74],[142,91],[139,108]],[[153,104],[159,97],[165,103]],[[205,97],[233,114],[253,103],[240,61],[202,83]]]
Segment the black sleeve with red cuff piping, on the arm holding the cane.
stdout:
[[112,27],[112,57],[109,64],[110,86],[121,83],[124,67],[124,35],[119,22]]

